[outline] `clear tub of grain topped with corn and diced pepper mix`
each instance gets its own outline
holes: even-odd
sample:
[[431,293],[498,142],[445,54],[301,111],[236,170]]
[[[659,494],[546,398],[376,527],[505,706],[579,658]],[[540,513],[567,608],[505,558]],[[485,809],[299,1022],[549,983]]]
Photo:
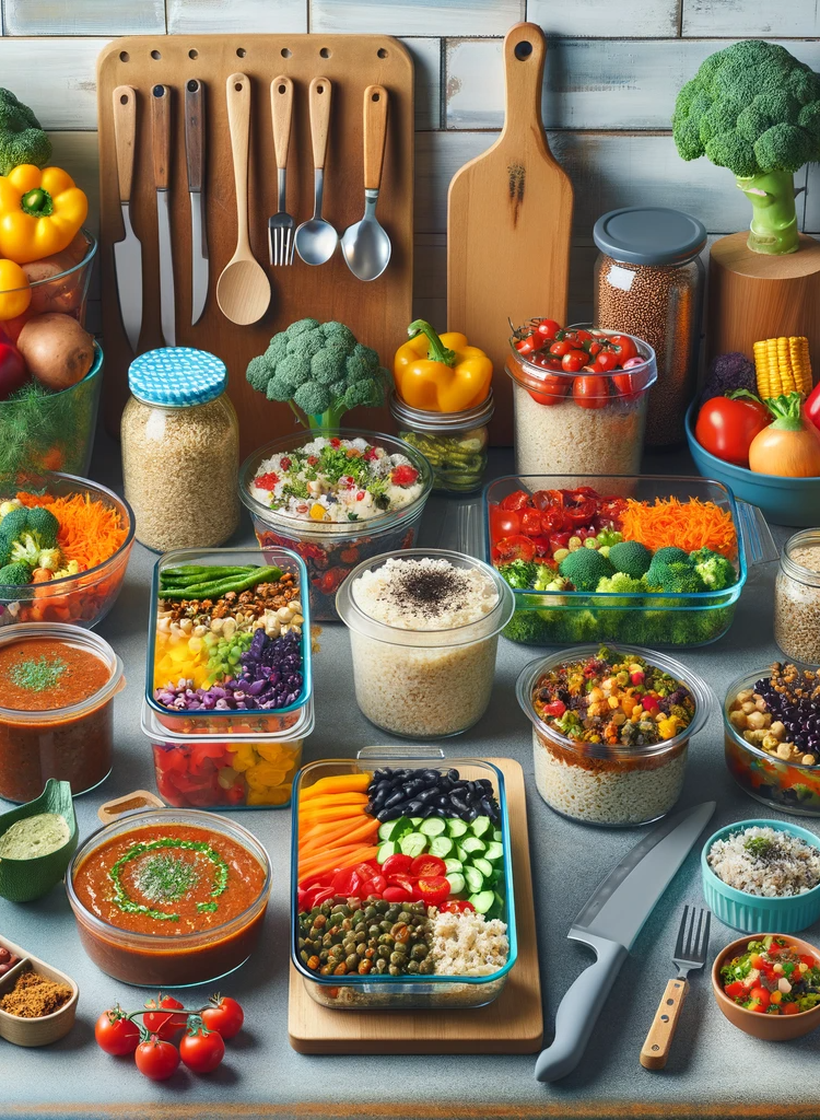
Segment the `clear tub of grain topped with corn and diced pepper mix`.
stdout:
[[523,670],[516,693],[543,800],[562,816],[613,827],[672,809],[710,699],[679,662],[637,646],[542,657]]

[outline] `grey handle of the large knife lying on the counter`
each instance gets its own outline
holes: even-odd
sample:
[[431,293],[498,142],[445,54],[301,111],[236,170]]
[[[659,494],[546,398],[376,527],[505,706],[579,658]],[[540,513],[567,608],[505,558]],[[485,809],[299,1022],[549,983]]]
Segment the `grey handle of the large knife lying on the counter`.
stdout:
[[584,941],[595,950],[597,960],[581,972],[561,1000],[556,1015],[556,1037],[538,1056],[535,1081],[558,1081],[575,1070],[621,965],[630,955],[623,945],[591,934],[574,940]]

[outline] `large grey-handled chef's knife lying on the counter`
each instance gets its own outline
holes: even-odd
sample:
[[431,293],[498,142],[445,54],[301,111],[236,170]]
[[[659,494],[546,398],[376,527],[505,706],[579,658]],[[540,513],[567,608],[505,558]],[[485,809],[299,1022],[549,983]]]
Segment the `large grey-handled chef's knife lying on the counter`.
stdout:
[[667,818],[627,852],[581,907],[567,936],[589,945],[597,960],[561,1000],[556,1037],[535,1062],[535,1081],[558,1081],[578,1065],[621,965],[715,805],[705,801]]

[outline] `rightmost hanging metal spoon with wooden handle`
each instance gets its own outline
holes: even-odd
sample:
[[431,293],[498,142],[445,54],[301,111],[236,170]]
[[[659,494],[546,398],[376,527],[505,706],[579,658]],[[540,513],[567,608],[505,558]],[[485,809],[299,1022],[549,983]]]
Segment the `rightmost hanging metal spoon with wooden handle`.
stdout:
[[390,237],[375,216],[386,136],[388,91],[383,85],[369,85],[364,91],[364,217],[342,235],[347,267],[360,280],[375,280],[390,261]]

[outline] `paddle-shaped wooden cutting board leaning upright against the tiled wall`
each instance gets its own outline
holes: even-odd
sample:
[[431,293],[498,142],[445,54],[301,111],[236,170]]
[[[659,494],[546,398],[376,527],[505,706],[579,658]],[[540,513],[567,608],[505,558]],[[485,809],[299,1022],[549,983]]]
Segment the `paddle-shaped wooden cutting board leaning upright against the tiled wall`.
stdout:
[[504,128],[465,164],[447,203],[447,327],[493,360],[494,444],[512,444],[510,324],[567,321],[572,184],[547,142],[541,90],[547,40],[535,24],[504,39]]

